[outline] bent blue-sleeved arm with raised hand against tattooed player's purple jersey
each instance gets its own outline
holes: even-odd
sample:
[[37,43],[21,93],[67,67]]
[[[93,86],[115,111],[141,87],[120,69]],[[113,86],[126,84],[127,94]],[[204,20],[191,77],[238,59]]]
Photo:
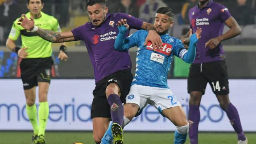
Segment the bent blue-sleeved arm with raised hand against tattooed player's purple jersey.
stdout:
[[[119,33],[115,40],[115,49],[119,51],[126,51],[129,48],[135,46],[137,38],[135,38],[133,35],[130,35],[128,38],[125,38],[125,33],[129,29],[129,25],[127,24],[126,19],[121,19],[120,21],[118,21],[117,26]],[[134,35],[137,35],[136,33]]]

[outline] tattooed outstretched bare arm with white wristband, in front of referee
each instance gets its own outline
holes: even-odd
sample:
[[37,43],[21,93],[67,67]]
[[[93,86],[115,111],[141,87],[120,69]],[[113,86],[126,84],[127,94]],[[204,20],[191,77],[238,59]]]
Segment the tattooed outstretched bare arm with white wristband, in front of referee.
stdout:
[[[22,17],[19,18],[19,25],[25,28],[28,31],[35,33],[36,35],[40,36],[41,38],[49,41],[49,42],[70,42],[75,41],[74,35],[71,31],[68,32],[55,32],[44,30],[35,26],[35,22],[33,18],[30,17],[29,20],[25,14],[21,15]],[[24,17],[24,18],[23,18]]]

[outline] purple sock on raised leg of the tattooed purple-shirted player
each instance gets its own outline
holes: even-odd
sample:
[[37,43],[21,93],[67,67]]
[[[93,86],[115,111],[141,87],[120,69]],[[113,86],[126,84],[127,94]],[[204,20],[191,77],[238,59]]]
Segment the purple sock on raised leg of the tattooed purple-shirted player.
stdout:
[[110,113],[113,123],[123,125],[123,104],[117,94],[110,94],[107,101],[110,106]]

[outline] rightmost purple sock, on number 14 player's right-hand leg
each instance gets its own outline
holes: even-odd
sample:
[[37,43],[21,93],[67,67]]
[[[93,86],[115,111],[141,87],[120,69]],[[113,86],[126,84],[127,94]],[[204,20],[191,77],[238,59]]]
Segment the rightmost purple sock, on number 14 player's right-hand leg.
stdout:
[[237,133],[238,140],[244,141],[246,138],[244,136],[244,132],[242,129],[242,125],[240,122],[239,114],[237,109],[233,104],[228,104],[228,107],[224,109],[224,111],[227,113],[228,119],[230,120],[230,123],[232,127],[234,128],[235,132]]

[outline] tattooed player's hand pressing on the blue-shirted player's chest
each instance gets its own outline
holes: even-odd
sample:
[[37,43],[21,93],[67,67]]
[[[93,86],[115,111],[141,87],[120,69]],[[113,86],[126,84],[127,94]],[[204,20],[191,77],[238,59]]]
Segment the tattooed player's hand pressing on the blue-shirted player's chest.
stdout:
[[154,51],[162,50],[163,48],[163,42],[161,40],[160,35],[155,30],[150,30],[147,34],[147,38],[144,42],[144,46],[147,45],[147,42],[152,42],[152,47],[154,48]]

